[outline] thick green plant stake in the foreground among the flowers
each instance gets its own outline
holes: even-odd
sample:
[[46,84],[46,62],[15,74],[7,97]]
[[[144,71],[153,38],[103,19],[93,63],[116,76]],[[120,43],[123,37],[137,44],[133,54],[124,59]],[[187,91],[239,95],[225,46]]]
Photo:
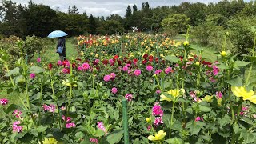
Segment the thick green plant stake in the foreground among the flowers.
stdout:
[[129,144],[127,100],[126,99],[122,99],[122,121],[123,121],[125,144]]

